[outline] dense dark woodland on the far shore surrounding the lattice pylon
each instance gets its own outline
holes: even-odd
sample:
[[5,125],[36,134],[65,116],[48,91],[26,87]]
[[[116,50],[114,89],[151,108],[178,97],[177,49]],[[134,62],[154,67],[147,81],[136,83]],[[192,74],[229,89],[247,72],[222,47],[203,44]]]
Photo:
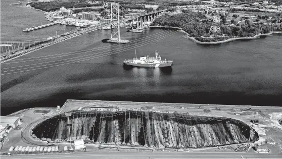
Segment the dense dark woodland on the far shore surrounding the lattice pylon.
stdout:
[[204,14],[187,10],[182,10],[182,13],[176,15],[163,15],[152,23],[152,26],[183,28],[183,31],[189,33],[189,36],[203,42],[220,41],[233,37],[253,37],[258,34],[269,33],[270,31],[282,31],[282,24],[250,23],[250,21],[246,20],[243,24],[228,26],[221,22],[221,34],[224,34],[224,37],[202,38],[203,36],[209,36],[208,33],[211,25],[212,20],[206,18]]

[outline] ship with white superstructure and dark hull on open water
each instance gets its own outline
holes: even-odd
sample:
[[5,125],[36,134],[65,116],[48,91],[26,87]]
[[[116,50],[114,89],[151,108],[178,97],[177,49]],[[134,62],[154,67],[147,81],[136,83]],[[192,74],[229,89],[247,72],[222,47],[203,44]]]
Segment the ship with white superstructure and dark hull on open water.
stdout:
[[171,67],[173,61],[162,61],[157,50],[155,52],[156,57],[144,56],[137,59],[136,50],[135,58],[133,60],[124,60],[123,64],[125,66],[134,66],[134,67]]

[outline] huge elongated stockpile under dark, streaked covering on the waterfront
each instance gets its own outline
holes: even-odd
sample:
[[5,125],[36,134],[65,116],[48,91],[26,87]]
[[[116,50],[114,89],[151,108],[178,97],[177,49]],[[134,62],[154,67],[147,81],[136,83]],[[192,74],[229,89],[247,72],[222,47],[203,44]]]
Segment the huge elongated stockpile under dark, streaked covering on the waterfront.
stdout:
[[[251,128],[244,122],[219,117],[150,111],[71,111],[38,124],[33,134],[55,141],[89,139],[108,144],[149,147],[206,147],[246,142]],[[251,141],[258,140],[258,133]]]

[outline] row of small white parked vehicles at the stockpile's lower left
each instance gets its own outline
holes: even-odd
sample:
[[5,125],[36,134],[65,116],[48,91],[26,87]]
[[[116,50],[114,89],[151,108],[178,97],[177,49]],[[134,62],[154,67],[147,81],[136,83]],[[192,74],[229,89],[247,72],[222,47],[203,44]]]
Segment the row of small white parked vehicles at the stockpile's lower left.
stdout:
[[[67,151],[68,147],[65,146],[64,150]],[[14,146],[11,146],[9,149],[10,152],[58,152],[59,147],[53,146],[53,147],[44,147],[44,146],[37,146],[37,147],[29,147],[29,146],[17,146],[16,148]]]

